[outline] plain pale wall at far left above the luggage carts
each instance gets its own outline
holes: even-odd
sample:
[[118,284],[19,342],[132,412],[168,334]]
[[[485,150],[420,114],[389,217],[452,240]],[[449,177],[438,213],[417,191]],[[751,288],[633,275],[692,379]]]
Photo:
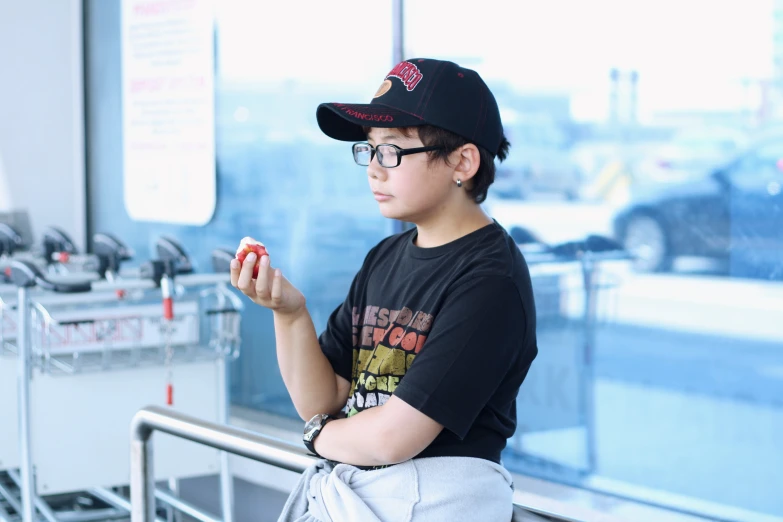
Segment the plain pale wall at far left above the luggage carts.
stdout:
[[85,247],[82,1],[0,0],[0,212]]

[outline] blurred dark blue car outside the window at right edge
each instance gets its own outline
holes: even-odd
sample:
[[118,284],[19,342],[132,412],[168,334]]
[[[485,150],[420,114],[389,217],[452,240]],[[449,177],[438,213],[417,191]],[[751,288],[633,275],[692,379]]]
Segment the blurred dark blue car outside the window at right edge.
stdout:
[[782,188],[783,140],[759,142],[698,178],[637,194],[615,215],[614,235],[640,271],[699,256],[781,272]]

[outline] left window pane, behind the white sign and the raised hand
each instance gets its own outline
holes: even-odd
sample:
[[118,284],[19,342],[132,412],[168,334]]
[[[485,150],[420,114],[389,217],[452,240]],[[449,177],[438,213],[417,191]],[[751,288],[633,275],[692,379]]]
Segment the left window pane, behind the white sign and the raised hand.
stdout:
[[[218,200],[208,225],[185,227],[133,222],[124,210],[119,2],[88,2],[91,229],[117,234],[139,261],[157,237],[172,235],[204,271],[213,248],[253,236],[305,294],[320,332],[393,223],[378,212],[351,144],[323,135],[315,111],[320,102],[372,99],[392,66],[391,1],[334,9],[230,0],[216,9]],[[271,312],[249,304],[241,333],[233,402],[298,418],[278,370]]]

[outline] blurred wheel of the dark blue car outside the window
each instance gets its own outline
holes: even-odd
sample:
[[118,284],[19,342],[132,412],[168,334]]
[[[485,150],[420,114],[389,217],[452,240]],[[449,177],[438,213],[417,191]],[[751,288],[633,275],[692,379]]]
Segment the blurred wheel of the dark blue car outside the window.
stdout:
[[660,221],[651,216],[630,218],[623,234],[623,247],[640,272],[665,272],[672,267],[669,239]]

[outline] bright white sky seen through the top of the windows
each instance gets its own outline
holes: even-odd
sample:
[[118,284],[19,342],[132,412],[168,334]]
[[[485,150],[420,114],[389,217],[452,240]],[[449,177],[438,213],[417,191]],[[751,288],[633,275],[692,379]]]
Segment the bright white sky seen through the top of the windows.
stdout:
[[[295,5],[297,16],[292,16]],[[481,6],[478,9],[477,6]],[[391,68],[391,0],[221,0],[221,75],[360,88]],[[436,56],[606,115],[609,70],[639,73],[639,111],[732,109],[772,73],[773,0],[407,0],[407,57]]]

